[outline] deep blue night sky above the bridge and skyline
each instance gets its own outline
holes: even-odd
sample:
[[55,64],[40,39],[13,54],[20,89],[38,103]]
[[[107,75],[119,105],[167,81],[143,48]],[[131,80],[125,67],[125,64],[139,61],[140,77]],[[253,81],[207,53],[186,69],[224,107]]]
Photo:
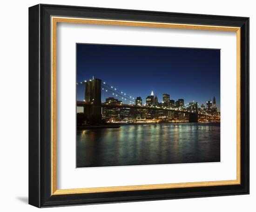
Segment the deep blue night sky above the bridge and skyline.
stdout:
[[[163,93],[199,105],[215,96],[220,111],[219,49],[77,44],[77,82],[93,76],[140,96],[143,104],[151,91],[159,102]],[[111,94],[102,93],[102,101]],[[77,100],[83,99],[84,86],[78,85]]]

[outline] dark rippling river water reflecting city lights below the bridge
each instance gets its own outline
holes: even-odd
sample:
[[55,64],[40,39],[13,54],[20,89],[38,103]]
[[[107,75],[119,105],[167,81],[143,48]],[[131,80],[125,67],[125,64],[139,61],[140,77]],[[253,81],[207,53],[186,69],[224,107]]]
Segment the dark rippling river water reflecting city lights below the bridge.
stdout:
[[77,167],[220,161],[220,124],[141,124],[77,131]]

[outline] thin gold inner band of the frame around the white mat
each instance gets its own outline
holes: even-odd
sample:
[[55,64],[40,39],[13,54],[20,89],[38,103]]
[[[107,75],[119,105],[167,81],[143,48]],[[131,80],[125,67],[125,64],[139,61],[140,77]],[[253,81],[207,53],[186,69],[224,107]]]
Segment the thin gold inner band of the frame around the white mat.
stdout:
[[[99,25],[119,25],[119,26],[140,26],[140,27],[160,27],[175,29],[194,29],[194,30],[211,30],[236,32],[236,179],[222,181],[206,182],[188,182],[188,183],[171,183],[171,184],[153,184],[138,186],[114,186],[114,187],[94,187],[80,189],[58,189],[57,190],[57,79],[56,79],[56,59],[57,59],[57,23],[75,23],[75,24],[99,24]],[[231,26],[207,26],[207,25],[190,25],[174,23],[158,23],[144,21],[128,20],[106,20],[106,19],[87,19],[87,18],[69,18],[69,17],[51,17],[51,192],[52,195],[63,194],[81,194],[81,193],[98,193],[98,192],[121,192],[121,191],[139,191],[152,189],[169,189],[185,188],[198,186],[227,186],[238,185],[241,183],[241,136],[240,136],[240,75],[241,75],[241,28]]]

